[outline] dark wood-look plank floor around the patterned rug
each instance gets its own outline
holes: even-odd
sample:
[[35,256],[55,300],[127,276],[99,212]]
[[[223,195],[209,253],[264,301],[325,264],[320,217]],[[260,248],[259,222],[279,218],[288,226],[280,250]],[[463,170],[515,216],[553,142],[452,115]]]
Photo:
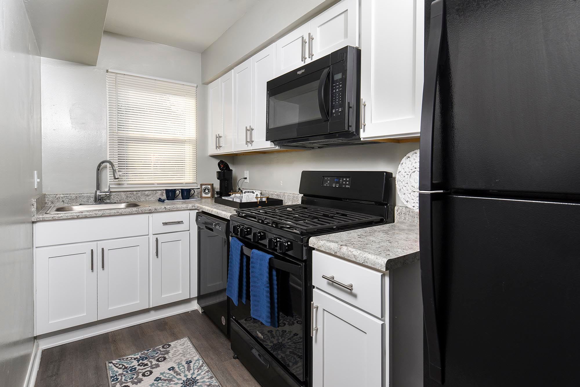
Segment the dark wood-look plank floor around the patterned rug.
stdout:
[[106,362],[189,337],[223,387],[259,387],[232,358],[230,342],[197,311],[104,333],[42,351],[35,387],[108,387]]

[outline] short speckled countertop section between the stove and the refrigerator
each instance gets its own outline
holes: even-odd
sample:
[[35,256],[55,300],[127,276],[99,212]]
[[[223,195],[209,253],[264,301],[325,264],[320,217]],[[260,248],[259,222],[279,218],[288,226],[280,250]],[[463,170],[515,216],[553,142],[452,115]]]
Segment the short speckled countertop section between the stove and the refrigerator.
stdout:
[[389,271],[419,260],[419,224],[395,221],[375,227],[314,236],[316,250],[338,255],[380,271]]

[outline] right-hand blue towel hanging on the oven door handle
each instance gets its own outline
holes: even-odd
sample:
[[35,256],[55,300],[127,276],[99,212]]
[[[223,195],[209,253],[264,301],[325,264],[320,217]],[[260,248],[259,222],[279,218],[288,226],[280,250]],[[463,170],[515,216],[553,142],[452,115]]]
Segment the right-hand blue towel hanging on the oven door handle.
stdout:
[[278,327],[278,284],[272,255],[252,250],[250,255],[250,315],[264,325]]

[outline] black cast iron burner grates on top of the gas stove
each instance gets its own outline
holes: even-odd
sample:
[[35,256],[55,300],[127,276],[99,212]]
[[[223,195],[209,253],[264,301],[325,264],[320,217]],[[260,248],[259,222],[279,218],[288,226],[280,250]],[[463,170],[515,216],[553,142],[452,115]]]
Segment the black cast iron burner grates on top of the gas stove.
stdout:
[[236,210],[241,218],[269,224],[295,232],[359,225],[383,221],[382,217],[327,207],[287,205]]

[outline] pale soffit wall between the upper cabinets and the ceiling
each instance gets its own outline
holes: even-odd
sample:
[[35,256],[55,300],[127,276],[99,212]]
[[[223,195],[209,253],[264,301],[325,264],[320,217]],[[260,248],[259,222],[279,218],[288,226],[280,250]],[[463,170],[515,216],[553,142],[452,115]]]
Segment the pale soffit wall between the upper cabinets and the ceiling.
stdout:
[[339,0],[260,0],[201,54],[205,84]]

